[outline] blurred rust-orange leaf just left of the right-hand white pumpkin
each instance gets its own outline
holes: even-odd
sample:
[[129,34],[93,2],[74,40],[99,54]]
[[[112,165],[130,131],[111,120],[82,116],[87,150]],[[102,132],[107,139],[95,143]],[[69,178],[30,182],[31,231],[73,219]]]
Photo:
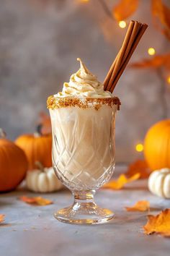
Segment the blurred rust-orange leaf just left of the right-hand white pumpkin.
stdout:
[[131,163],[128,166],[126,175],[128,177],[133,176],[134,174],[140,174],[140,179],[146,179],[151,174],[150,168],[145,160],[136,160],[134,163]]

